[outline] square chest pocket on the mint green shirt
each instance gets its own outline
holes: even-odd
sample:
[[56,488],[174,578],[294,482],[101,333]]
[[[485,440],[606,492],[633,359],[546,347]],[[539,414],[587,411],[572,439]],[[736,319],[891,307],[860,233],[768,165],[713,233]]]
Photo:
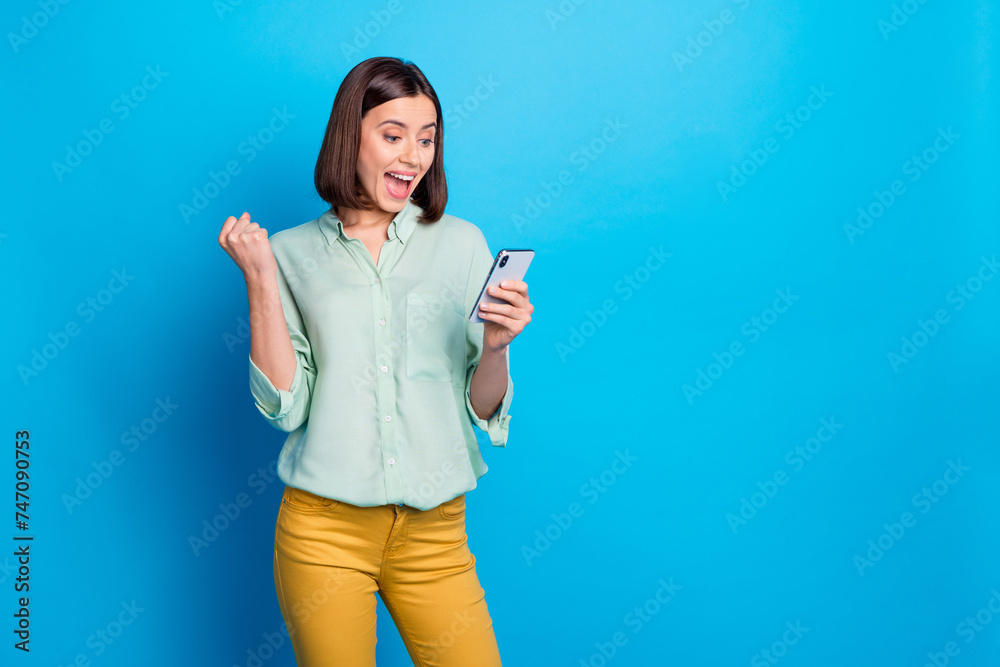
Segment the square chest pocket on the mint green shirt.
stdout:
[[433,294],[406,295],[406,376],[465,386],[465,314]]

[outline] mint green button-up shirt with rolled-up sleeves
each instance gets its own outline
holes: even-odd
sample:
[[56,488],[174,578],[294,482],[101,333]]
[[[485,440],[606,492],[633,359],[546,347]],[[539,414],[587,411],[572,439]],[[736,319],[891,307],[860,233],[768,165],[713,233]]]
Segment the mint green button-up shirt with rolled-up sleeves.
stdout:
[[483,324],[468,319],[493,255],[483,233],[445,214],[417,220],[411,201],[389,224],[378,264],[333,210],[270,237],[295,349],[291,387],[250,360],[250,392],[288,432],[278,476],[353,505],[426,510],[487,471],[473,425],[507,444],[514,386],[488,420],[472,409]]

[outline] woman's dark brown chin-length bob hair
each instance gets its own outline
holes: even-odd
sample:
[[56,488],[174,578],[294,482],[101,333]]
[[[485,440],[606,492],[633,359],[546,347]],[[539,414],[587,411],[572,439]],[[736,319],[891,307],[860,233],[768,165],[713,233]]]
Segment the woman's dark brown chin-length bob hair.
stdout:
[[437,111],[434,160],[414,189],[410,199],[423,209],[421,222],[435,222],[448,202],[444,177],[444,123],[437,93],[424,73],[401,58],[376,57],[364,60],[348,72],[333,100],[326,135],[319,149],[313,179],[316,192],[330,207],[370,211],[375,203],[357,176],[361,149],[361,119],[373,107],[398,97],[426,95]]

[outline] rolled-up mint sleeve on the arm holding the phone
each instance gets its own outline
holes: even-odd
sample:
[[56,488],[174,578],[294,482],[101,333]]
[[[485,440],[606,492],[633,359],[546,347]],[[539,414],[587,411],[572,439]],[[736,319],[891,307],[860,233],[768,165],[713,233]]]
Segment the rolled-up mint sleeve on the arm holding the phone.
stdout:
[[[476,230],[475,249],[473,251],[472,266],[469,270],[469,281],[465,296],[465,312],[471,313],[476,301],[479,299],[479,292],[482,289],[483,281],[493,266],[493,254],[486,243],[486,238],[482,232]],[[482,429],[490,438],[494,447],[507,446],[507,432],[511,415],[508,414],[511,399],[514,397],[514,381],[510,374],[510,346],[507,347],[507,390],[500,401],[500,407],[489,419],[483,419],[476,414],[472,407],[472,375],[479,367],[479,360],[483,354],[483,328],[484,324],[465,322],[466,339],[466,374],[465,374],[465,408],[472,419],[472,423]]]

